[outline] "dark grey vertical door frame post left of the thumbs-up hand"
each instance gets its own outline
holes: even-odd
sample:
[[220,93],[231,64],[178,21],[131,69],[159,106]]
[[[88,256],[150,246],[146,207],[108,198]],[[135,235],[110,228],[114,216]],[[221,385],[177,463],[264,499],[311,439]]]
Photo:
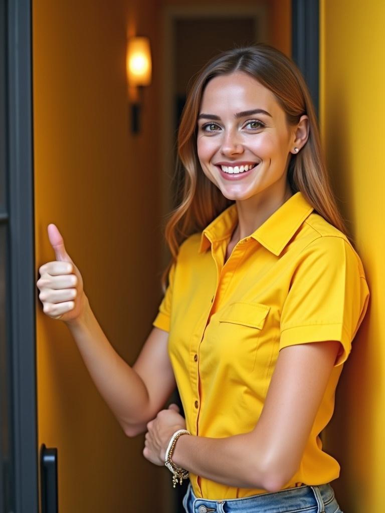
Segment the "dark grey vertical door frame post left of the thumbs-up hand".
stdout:
[[[0,0],[6,41],[8,432],[12,510],[38,511],[31,0]],[[9,508],[11,511],[11,508]]]

